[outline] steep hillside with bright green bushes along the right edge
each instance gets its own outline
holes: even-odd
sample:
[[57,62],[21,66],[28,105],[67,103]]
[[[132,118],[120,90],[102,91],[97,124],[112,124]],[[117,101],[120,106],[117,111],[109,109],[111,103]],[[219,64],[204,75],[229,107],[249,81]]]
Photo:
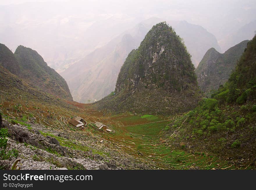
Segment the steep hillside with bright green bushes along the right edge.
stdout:
[[203,151],[233,165],[256,168],[255,60],[256,37],[248,42],[228,82],[163,133],[173,147]]

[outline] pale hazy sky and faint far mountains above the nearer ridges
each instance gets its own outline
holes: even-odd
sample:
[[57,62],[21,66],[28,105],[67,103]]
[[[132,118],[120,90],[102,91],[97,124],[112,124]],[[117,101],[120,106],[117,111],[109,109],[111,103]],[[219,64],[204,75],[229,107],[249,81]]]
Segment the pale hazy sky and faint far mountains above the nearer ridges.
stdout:
[[0,0],[0,43],[13,51],[20,44],[31,47],[50,65],[58,64],[75,61],[152,17],[200,25],[225,44],[256,19],[256,1]]

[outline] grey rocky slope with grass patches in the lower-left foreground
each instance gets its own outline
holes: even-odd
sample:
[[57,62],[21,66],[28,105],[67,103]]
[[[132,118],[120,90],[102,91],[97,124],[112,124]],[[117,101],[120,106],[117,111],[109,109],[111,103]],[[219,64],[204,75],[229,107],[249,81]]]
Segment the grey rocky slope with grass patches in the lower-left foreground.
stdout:
[[[60,133],[46,129],[40,124],[30,122],[30,127],[20,124],[11,124],[3,119],[3,127],[8,128],[8,149],[19,151],[21,169],[150,169],[132,155],[122,154],[114,149],[111,142],[103,143],[97,136],[73,136],[65,131]],[[43,131],[47,131],[45,133]],[[42,135],[44,134],[44,135]],[[77,143],[85,143],[89,147],[103,149],[108,156],[95,153],[95,149],[81,151],[74,147],[61,146],[60,142],[49,135],[61,137],[63,141],[70,142],[73,137]],[[83,141],[82,141],[83,139]],[[76,143],[75,140],[72,140]],[[96,151],[97,152],[97,151]]]

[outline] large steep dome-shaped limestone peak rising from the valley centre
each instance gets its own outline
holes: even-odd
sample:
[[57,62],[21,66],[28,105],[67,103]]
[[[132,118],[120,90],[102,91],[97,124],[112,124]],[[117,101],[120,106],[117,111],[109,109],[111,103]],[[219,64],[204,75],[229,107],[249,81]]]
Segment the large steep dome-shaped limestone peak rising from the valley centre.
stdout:
[[99,109],[138,113],[182,113],[200,99],[194,66],[176,32],[158,23],[121,67],[115,93],[96,102]]

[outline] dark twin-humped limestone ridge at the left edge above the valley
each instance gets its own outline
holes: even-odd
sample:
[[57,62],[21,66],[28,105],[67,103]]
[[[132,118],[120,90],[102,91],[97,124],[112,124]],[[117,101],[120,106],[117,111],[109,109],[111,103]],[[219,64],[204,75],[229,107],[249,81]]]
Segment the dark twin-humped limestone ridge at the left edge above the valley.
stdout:
[[0,63],[33,86],[57,97],[72,100],[66,81],[44,59],[31,48],[18,46],[13,54],[6,46],[0,44]]

